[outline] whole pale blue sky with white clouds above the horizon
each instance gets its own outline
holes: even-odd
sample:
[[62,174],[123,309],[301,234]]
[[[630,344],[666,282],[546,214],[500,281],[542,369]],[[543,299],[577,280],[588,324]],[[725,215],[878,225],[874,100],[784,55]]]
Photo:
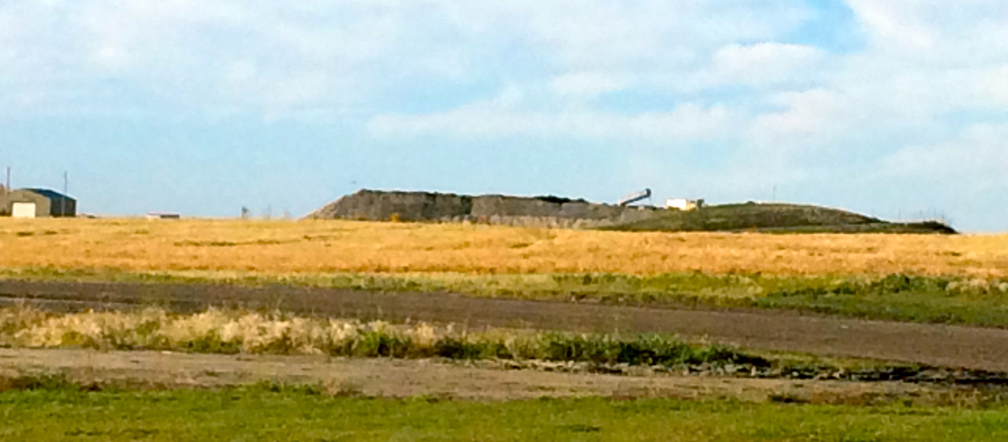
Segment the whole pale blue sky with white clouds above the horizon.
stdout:
[[1003,0],[0,0],[0,166],[96,213],[360,187],[1008,231]]

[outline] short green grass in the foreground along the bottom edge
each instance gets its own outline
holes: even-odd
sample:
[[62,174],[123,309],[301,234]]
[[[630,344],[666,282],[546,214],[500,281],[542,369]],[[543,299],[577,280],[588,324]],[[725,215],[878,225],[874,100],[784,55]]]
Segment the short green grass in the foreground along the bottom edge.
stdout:
[[333,398],[310,388],[0,394],[0,440],[1002,441],[1008,410]]

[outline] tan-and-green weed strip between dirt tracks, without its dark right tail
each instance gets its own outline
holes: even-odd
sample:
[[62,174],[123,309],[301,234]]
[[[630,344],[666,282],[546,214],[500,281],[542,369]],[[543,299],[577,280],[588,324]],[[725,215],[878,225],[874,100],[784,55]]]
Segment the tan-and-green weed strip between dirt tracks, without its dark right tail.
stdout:
[[191,315],[161,309],[76,314],[0,309],[0,345],[665,366],[769,363],[731,348],[695,346],[659,334],[627,337],[522,330],[469,332],[454,325],[396,325],[219,309]]

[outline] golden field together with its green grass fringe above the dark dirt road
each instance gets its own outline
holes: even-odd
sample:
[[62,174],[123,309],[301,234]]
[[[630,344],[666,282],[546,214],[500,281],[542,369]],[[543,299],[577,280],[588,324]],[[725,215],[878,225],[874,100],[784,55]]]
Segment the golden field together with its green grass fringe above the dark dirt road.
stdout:
[[0,279],[284,284],[1008,326],[1008,236],[0,219]]

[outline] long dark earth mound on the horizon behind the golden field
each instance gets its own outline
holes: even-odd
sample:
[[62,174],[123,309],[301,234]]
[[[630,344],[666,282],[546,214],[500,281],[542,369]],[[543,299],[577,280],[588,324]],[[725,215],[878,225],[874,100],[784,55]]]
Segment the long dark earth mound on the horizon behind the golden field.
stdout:
[[486,223],[627,232],[956,233],[940,223],[888,223],[814,205],[750,202],[682,211],[599,204],[556,196],[470,196],[367,189],[331,202],[306,217]]

